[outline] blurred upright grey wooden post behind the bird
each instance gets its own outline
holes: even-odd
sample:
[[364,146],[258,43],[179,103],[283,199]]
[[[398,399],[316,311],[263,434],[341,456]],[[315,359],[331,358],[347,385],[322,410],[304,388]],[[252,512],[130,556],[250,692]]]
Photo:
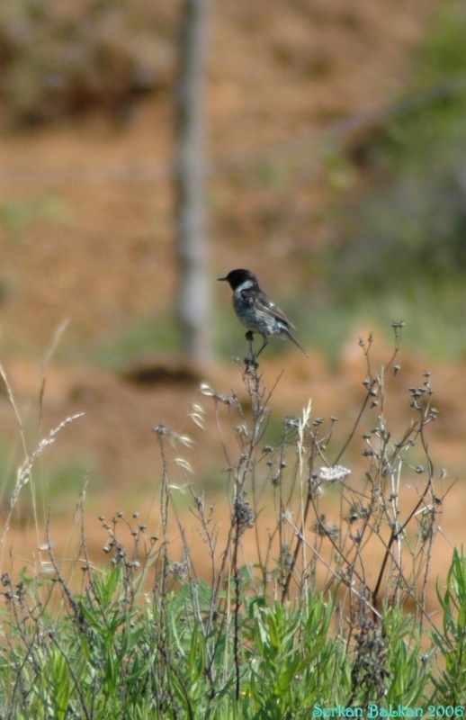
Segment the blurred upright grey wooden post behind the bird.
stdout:
[[176,96],[178,316],[184,352],[211,358],[211,276],[205,202],[204,59],[210,0],[184,0]]

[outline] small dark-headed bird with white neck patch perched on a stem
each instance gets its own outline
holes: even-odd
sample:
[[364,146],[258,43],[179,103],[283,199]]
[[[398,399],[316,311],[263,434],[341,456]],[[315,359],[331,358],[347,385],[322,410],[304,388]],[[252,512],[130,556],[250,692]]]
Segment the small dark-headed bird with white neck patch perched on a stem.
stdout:
[[237,318],[248,329],[246,339],[252,340],[252,334],[255,332],[260,333],[264,338],[264,345],[255,357],[262,353],[271,335],[291,340],[305,356],[309,357],[291,332],[295,329],[294,325],[291,325],[290,320],[260,289],[254,273],[250,270],[231,270],[226,277],[219,277],[219,280],[226,280],[233,291],[233,307]]

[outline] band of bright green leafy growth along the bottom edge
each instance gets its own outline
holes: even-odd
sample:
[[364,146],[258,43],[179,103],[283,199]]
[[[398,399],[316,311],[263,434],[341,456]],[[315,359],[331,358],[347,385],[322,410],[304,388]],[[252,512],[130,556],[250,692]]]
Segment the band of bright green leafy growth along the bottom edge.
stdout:
[[[361,635],[350,653],[345,637],[331,632],[335,604],[316,592],[283,605],[252,588],[248,597],[245,587],[237,618],[220,601],[220,616],[209,622],[205,582],[185,582],[162,598],[143,592],[140,573],[123,561],[84,573],[84,593],[66,597],[60,581],[67,605],[58,614],[43,601],[53,581],[38,588],[24,577],[13,587],[4,578],[2,716],[304,720],[318,708],[370,702],[443,705],[462,716],[466,558],[457,552],[439,590],[444,630],[423,651],[417,625],[399,608],[385,608],[380,625],[365,628],[370,642]],[[426,661],[435,647],[444,668],[436,675]]]

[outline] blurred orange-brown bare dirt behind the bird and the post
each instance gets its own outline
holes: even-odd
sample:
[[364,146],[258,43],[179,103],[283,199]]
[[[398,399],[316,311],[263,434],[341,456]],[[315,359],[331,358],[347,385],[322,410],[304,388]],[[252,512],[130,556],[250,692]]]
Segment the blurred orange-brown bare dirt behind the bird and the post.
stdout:
[[[397,97],[410,72],[410,52],[422,38],[434,6],[435,2],[409,2],[394,7],[391,0],[354,0],[351,9],[343,0],[292,6],[279,0],[219,4],[211,22],[207,92],[214,168],[212,282],[233,266],[259,266],[265,286],[271,286],[278,263],[281,291],[296,287],[305,292],[313,272],[313,250],[333,239],[329,209],[335,187],[327,182],[321,160],[322,131],[334,121],[371,112]],[[47,451],[50,460],[47,453],[40,459],[38,473],[47,475],[49,463],[57,462],[89,469],[86,530],[96,555],[104,539],[95,515],[111,515],[129,503],[144,506],[149,487],[148,496],[153,497],[160,464],[151,428],[165,423],[193,434],[199,449],[190,451],[190,457],[198,477],[219,473],[224,457],[213,419],[202,433],[190,425],[187,411],[199,400],[196,389],[201,381],[218,392],[242,392],[229,358],[194,368],[184,358],[167,357],[163,348],[155,347],[150,383],[136,383],[85,362],[88,348],[116,337],[143,313],[170,311],[175,302],[172,101],[173,95],[166,92],[139,103],[124,129],[95,113],[0,138],[0,204],[31,211],[31,222],[0,227],[2,362],[30,452],[50,428],[85,412],[84,418],[60,431]],[[283,196],[283,202],[291,203],[290,215],[299,219],[291,233],[273,226],[276,195],[224,169],[233,164],[247,175],[249,166],[253,172],[255,158],[268,153],[273,157],[277,148],[290,148],[291,157],[300,155],[302,148],[309,153],[309,179],[292,198]],[[220,293],[216,297],[224,305],[225,318],[235,322],[229,300],[223,295],[220,300]],[[52,356],[42,372],[41,359],[65,318],[69,326],[60,345],[67,361],[58,363]],[[349,428],[361,401],[365,372],[357,337],[367,331],[354,329],[344,356],[331,371],[317,354],[307,361],[291,349],[273,395],[277,416],[300,413],[312,397],[316,416],[338,415]],[[390,356],[387,348],[377,352],[381,358]],[[139,360],[135,357],[134,363]],[[282,358],[264,358],[269,386],[284,365]],[[402,379],[390,408],[402,422],[409,413],[407,388],[422,383],[425,365],[425,359],[403,357]],[[464,368],[431,364],[428,369],[441,410],[432,430],[437,470],[445,466],[451,477],[462,475]],[[0,427],[5,475],[11,478],[22,451],[6,393],[0,398]],[[84,475],[83,469],[68,498],[77,497]],[[464,539],[464,494],[458,483],[454,499],[451,493],[444,507],[445,533],[458,544]],[[219,505],[228,515],[227,503],[222,506],[220,500]],[[6,492],[4,506],[6,510]],[[8,533],[7,546],[14,548],[16,562],[29,557],[38,542],[27,517],[30,507],[26,502]],[[66,546],[73,509],[54,511],[54,541],[57,547]],[[444,553],[450,553],[445,543],[435,569],[444,567]]]

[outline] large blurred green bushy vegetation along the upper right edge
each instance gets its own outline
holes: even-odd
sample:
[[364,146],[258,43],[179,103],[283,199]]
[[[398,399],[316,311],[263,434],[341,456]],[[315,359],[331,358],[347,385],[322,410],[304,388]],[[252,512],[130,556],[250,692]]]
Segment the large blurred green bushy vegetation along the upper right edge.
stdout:
[[[417,50],[411,87],[352,152],[363,175],[337,209],[339,242],[324,258],[326,328],[345,318],[407,321],[408,343],[466,353],[466,7],[445,4]],[[323,335],[324,333],[324,335]],[[335,338],[332,337],[332,341]]]

